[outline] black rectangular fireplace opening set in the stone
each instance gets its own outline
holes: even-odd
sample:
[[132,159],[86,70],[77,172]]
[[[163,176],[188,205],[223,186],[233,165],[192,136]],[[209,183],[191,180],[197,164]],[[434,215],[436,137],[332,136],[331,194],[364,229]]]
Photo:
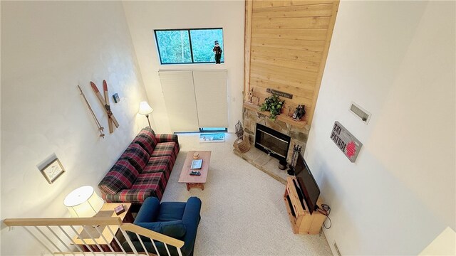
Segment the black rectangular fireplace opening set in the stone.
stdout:
[[257,123],[255,147],[279,161],[286,161],[291,138],[274,129]]

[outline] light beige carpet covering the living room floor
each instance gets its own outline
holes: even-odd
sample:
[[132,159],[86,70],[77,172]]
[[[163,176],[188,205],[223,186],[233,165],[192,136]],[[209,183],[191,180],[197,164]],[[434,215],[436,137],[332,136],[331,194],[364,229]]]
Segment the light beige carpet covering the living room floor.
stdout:
[[[162,201],[202,200],[195,256],[332,255],[324,237],[294,235],[282,196],[284,184],[232,152],[235,134],[225,143],[199,143],[199,134],[179,134],[180,153]],[[177,183],[188,151],[212,151],[204,191]]]

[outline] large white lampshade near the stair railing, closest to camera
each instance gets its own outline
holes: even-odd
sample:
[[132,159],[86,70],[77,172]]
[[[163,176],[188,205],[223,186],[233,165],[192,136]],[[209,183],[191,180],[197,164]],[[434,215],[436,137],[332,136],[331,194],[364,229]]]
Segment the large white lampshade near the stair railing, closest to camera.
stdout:
[[103,207],[103,201],[91,186],[81,186],[71,191],[63,200],[68,208],[71,217],[88,218],[93,217]]

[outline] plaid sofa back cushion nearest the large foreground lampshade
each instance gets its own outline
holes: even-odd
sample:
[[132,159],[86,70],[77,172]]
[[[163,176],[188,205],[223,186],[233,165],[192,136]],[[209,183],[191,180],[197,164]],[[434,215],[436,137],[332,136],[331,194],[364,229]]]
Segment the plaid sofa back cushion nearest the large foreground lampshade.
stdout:
[[98,188],[105,193],[114,194],[121,189],[128,189],[139,176],[135,167],[127,160],[118,160],[108,174],[98,183]]

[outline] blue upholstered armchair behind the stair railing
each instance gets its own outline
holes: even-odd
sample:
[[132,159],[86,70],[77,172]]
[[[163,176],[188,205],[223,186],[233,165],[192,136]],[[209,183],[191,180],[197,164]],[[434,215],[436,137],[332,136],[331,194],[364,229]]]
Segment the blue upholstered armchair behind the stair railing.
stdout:
[[[188,198],[187,203],[160,203],[157,198],[149,197],[142,203],[133,224],[184,241],[184,246],[181,248],[182,255],[192,256],[198,224],[201,219],[200,210],[201,200],[197,197]],[[130,234],[130,239],[138,252],[144,251],[135,234]],[[141,238],[141,240],[148,252],[157,254],[148,238]],[[160,255],[167,255],[165,245],[155,240],[154,242]],[[126,249],[130,249],[127,242],[124,242],[124,245]],[[168,248],[171,255],[178,255],[175,247],[168,245]]]

